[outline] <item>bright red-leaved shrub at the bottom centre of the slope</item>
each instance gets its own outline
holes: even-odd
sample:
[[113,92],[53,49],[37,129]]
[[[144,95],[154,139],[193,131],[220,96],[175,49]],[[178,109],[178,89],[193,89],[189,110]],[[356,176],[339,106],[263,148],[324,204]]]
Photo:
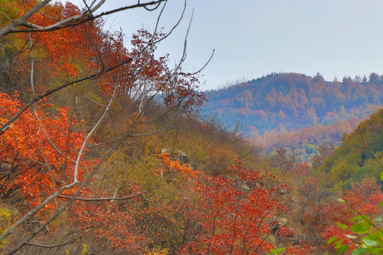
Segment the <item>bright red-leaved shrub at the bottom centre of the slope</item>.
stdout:
[[228,169],[228,174],[232,177],[196,180],[203,230],[184,246],[182,254],[259,254],[274,248],[267,237],[279,213],[288,212],[276,193],[287,186],[265,188],[262,181],[274,177],[245,169],[241,162]]

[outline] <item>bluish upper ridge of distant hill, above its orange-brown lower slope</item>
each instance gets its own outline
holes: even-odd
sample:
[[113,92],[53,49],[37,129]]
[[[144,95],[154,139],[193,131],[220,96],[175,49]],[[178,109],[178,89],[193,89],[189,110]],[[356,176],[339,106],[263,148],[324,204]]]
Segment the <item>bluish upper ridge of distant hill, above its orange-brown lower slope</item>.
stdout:
[[383,76],[325,81],[321,74],[269,74],[208,92],[202,113],[248,136],[283,133],[366,118],[383,104]]

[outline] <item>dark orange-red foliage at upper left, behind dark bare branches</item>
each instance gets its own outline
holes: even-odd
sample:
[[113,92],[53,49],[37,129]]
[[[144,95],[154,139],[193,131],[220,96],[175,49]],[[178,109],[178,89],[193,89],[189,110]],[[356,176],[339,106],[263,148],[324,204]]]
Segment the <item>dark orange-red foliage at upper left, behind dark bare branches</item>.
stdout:
[[[33,2],[27,1],[25,4],[27,9],[33,8]],[[60,2],[55,2],[46,5],[41,12],[35,13],[29,21],[38,26],[50,26],[57,20],[63,20],[78,13],[80,13],[79,8],[74,4],[67,2],[63,6]],[[18,64],[23,66],[20,69],[21,72],[28,74],[30,57],[25,48],[30,47],[30,38],[32,39],[33,58],[35,60],[35,80],[39,83],[52,84],[48,78],[60,76],[74,78],[80,72],[89,72],[90,69],[96,67],[94,64],[95,52],[91,42],[97,39],[96,34],[101,30],[98,26],[99,21],[94,21],[94,23],[83,24],[75,28],[33,33],[30,37],[27,33],[17,34],[18,45],[23,47],[23,49],[18,49],[23,53],[18,56]]]

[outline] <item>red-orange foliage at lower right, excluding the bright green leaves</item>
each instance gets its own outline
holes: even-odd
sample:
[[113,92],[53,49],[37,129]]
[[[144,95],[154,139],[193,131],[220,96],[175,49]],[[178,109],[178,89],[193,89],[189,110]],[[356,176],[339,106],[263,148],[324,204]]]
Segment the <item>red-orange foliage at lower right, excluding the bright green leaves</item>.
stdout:
[[[304,201],[306,208],[311,208],[312,211],[306,213],[304,222],[307,226],[311,226],[313,233],[321,238],[337,237],[337,240],[343,239],[340,241],[342,244],[347,244],[354,249],[355,239],[350,239],[350,236],[354,236],[355,232],[350,230],[350,226],[356,222],[350,219],[359,214],[371,219],[382,215],[382,208],[377,208],[383,199],[381,187],[372,179],[363,179],[360,183],[351,183],[350,190],[345,191],[345,197],[343,193],[338,193],[338,199],[330,200],[324,196],[318,197],[319,191],[316,186],[318,186],[318,180],[311,177],[306,180],[306,185],[302,188],[307,199]],[[316,198],[315,194],[317,194]],[[349,249],[347,254],[351,254],[352,249]]]

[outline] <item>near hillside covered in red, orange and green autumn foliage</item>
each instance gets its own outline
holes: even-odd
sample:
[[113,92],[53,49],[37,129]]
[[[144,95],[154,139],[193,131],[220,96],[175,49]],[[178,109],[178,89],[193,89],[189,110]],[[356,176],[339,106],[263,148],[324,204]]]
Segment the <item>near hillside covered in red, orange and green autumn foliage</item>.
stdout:
[[[97,16],[103,3],[1,2],[0,254],[379,254],[370,223],[383,193],[365,146],[382,154],[382,111],[362,136],[320,147],[313,166],[287,149],[267,154],[201,120],[206,97],[186,55],[173,65],[157,54],[177,26],[129,42],[104,29],[102,16],[162,1]],[[360,88],[380,101],[372,77]],[[318,130],[301,136],[321,140],[309,135]]]

